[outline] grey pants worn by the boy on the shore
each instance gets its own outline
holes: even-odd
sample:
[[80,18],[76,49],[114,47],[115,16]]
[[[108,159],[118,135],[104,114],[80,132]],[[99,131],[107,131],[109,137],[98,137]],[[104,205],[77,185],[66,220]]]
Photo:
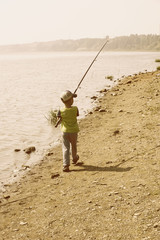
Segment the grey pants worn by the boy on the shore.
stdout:
[[70,145],[72,158],[77,158],[77,133],[62,133],[63,166],[70,166]]

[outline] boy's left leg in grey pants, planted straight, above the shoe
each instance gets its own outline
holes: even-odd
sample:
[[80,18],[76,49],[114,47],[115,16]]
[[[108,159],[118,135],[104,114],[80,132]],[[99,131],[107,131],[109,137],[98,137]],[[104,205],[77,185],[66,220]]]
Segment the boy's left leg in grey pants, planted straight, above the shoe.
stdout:
[[68,133],[62,133],[63,166],[70,166],[70,141]]

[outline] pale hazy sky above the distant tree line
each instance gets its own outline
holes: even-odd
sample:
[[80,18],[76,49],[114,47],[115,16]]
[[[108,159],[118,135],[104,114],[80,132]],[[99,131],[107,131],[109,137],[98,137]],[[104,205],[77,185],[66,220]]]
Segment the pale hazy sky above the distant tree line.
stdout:
[[0,0],[0,44],[160,34],[160,0]]

